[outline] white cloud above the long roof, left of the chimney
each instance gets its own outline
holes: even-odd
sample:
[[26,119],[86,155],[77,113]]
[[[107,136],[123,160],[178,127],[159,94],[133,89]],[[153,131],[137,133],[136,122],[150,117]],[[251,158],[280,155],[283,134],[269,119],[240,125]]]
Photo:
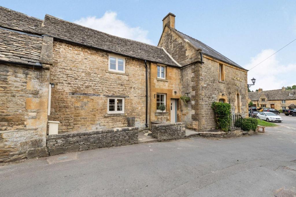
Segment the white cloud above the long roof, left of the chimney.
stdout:
[[105,12],[101,18],[91,16],[81,18],[74,22],[111,35],[137,40],[147,44],[153,44],[152,41],[147,38],[147,30],[143,30],[141,27],[129,27],[125,22],[117,19],[116,17],[116,12]]

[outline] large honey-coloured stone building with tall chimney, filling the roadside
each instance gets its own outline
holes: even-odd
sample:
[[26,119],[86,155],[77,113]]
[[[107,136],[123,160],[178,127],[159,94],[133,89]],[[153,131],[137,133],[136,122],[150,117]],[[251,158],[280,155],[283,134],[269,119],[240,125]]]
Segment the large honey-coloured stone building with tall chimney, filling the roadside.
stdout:
[[[0,7],[0,17],[0,162],[58,154],[58,141],[65,150],[137,143],[161,104],[166,121],[199,131],[215,128],[213,101],[247,116],[247,70],[177,31],[171,13],[158,47],[50,15]],[[48,121],[60,122],[60,140]]]

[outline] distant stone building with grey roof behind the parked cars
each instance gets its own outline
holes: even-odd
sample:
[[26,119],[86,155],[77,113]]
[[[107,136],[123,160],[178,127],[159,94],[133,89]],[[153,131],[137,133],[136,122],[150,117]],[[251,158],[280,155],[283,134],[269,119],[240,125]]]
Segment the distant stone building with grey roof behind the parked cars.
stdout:
[[296,105],[296,90],[281,89],[266,90],[258,89],[258,92],[249,92],[248,102],[252,101],[253,106],[261,108],[272,108],[283,110],[294,108]]

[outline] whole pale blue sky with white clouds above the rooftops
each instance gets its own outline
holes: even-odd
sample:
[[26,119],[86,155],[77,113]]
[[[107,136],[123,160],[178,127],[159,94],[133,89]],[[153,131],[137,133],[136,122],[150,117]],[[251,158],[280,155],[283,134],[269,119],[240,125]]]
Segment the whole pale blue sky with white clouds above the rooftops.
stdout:
[[[113,35],[157,45],[162,19],[176,15],[176,29],[246,69],[296,38],[296,1],[14,1],[1,6],[45,14]],[[296,84],[296,41],[248,73],[253,90]]]

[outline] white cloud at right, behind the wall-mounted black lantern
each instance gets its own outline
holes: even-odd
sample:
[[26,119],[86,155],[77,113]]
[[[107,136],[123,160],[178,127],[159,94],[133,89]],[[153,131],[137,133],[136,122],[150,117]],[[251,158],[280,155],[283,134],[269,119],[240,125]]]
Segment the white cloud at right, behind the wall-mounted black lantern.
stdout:
[[[273,49],[262,50],[256,57],[251,58],[250,63],[244,68],[251,69],[273,53],[275,53]],[[296,64],[283,65],[275,54],[248,71],[248,83],[251,83],[253,77],[256,79],[255,85],[250,89],[254,91],[258,88],[272,90],[292,86],[295,84],[295,70]]]

